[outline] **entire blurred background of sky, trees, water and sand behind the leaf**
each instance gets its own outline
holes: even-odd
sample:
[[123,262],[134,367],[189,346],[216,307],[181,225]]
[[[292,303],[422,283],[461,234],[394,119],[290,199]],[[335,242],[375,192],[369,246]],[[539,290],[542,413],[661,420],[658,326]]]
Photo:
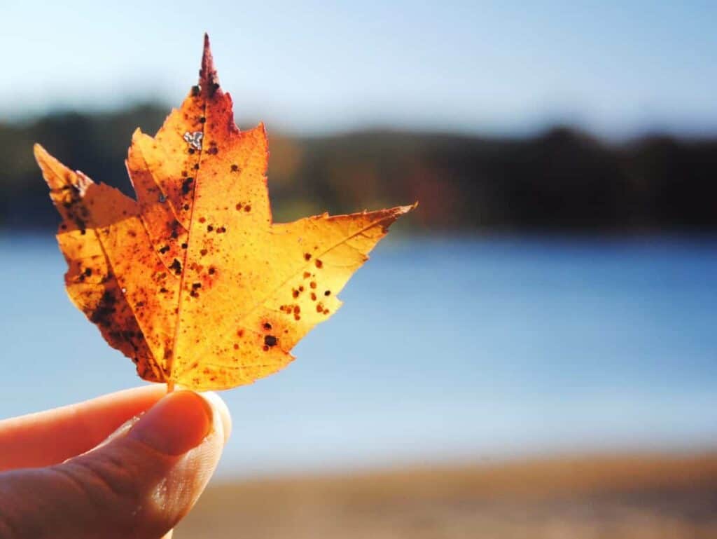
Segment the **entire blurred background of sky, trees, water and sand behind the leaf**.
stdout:
[[3,12],[1,418],[140,383],[67,299],[32,144],[130,193],[206,31],[276,220],[421,205],[293,365],[222,394],[176,537],[717,536],[713,2]]

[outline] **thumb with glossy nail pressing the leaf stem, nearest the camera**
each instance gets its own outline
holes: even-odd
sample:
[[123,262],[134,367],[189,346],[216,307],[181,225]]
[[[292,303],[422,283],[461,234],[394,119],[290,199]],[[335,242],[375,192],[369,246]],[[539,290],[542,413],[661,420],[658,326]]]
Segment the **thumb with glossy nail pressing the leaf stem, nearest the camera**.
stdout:
[[0,474],[0,537],[161,538],[206,487],[230,429],[214,393],[170,393],[85,454]]

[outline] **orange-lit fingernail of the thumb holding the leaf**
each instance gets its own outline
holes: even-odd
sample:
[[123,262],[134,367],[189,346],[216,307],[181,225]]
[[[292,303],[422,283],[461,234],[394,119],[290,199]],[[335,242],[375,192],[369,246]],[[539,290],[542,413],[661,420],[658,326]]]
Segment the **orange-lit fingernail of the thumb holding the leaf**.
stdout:
[[175,391],[150,408],[128,437],[176,456],[201,444],[211,430],[209,403],[193,391]]

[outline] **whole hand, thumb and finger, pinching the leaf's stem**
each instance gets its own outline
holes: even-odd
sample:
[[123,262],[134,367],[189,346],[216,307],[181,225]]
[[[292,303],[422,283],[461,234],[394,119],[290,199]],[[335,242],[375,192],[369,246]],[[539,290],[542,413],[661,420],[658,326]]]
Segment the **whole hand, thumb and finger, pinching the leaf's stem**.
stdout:
[[170,537],[231,421],[214,393],[165,392],[145,386],[0,421],[0,538]]

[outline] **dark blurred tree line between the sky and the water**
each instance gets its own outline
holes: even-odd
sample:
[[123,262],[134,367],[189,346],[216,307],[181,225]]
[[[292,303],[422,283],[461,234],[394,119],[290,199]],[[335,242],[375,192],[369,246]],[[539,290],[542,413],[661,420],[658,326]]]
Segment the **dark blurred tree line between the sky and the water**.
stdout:
[[[0,227],[57,223],[34,142],[130,194],[123,162],[131,133],[136,126],[154,133],[167,113],[140,106],[0,123]],[[422,230],[717,228],[717,139],[606,144],[567,128],[527,138],[391,131],[296,137],[270,128],[269,136],[277,221],[419,200],[409,223]]]

